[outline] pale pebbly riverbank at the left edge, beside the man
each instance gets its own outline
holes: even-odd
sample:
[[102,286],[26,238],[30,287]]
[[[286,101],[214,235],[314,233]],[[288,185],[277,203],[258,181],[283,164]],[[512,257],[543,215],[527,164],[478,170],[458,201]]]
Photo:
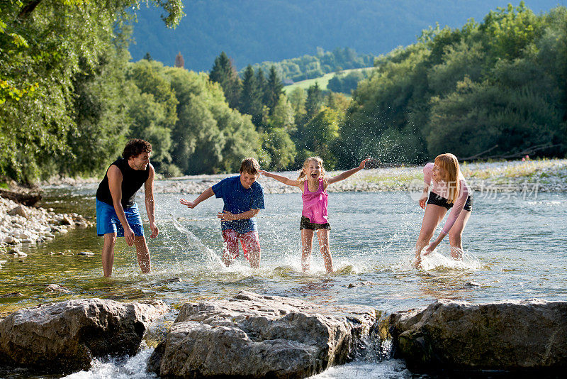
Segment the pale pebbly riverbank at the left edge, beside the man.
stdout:
[[92,225],[93,221],[76,213],[57,214],[53,209],[26,207],[0,197],[0,250],[6,253],[26,256],[19,249],[24,243],[51,241],[69,229],[86,229]]

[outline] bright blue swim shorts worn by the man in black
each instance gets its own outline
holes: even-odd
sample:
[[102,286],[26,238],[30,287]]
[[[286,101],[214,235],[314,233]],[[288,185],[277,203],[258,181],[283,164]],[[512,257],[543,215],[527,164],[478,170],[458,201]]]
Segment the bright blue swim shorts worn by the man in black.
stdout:
[[[144,236],[142,217],[140,217],[137,204],[134,203],[134,207],[124,208],[124,213],[126,221],[128,221],[130,228],[134,231],[134,236]],[[108,233],[116,233],[117,237],[123,237],[124,228],[120,223],[120,219],[118,219],[114,207],[96,199],[96,234],[100,237]]]

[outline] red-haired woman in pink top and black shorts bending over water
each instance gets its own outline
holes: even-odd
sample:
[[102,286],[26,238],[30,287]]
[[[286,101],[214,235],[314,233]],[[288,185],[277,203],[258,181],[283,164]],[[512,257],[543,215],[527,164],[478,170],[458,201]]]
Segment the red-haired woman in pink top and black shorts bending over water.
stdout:
[[461,237],[473,207],[472,192],[466,185],[455,155],[449,153],[437,155],[434,163],[427,163],[423,167],[423,174],[425,187],[420,197],[420,207],[425,208],[425,214],[420,236],[415,243],[416,267],[421,264],[421,251],[430,243],[437,225],[451,208],[451,214],[441,233],[435,241],[430,243],[430,246],[427,246],[423,256],[434,251],[443,238],[449,234],[451,256],[455,259],[461,258],[463,249]]

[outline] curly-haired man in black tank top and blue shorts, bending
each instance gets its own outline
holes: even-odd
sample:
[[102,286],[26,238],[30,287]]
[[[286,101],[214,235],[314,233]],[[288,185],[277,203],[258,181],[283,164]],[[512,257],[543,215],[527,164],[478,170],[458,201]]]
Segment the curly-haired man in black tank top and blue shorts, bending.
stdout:
[[102,268],[104,276],[112,275],[116,237],[125,237],[128,246],[136,246],[137,263],[142,273],[151,270],[142,218],[134,197],[144,186],[147,218],[152,238],[157,237],[154,202],[154,167],[150,164],[152,145],[134,139],[125,145],[122,156],[115,160],[96,190],[96,233],[104,236]]

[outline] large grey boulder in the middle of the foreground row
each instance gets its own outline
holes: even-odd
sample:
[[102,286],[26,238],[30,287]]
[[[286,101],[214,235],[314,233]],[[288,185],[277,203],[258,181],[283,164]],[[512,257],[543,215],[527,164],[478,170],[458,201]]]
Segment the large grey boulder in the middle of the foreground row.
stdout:
[[184,304],[148,368],[166,378],[305,378],[354,358],[370,307],[321,307],[240,292]]

